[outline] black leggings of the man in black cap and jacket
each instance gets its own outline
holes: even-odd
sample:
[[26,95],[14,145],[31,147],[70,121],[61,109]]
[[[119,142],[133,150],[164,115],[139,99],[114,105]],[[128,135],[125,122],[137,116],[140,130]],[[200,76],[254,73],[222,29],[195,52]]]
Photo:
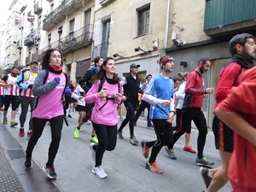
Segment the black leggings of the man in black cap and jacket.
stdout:
[[134,136],[134,122],[135,122],[135,109],[137,107],[137,102],[128,102],[125,101],[125,108],[126,108],[126,117],[123,120],[122,124],[119,127],[119,131],[122,131],[125,127],[125,125],[127,125],[128,122],[129,123],[129,128],[130,128],[130,136]]

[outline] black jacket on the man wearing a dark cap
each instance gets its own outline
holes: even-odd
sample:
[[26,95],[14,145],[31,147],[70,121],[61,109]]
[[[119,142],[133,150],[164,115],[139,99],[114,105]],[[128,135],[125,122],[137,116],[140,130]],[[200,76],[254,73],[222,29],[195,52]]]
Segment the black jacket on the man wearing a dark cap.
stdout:
[[131,73],[129,75],[126,75],[125,79],[127,81],[127,84],[125,84],[123,87],[127,101],[138,102],[137,94],[138,90],[140,89],[141,79],[138,79],[138,76],[136,79],[134,79],[131,76]]

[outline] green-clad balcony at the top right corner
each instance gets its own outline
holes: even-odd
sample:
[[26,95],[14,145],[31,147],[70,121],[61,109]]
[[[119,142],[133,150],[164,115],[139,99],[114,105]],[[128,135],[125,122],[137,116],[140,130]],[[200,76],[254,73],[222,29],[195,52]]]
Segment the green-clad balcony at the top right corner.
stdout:
[[206,0],[204,32],[218,37],[255,28],[253,0]]

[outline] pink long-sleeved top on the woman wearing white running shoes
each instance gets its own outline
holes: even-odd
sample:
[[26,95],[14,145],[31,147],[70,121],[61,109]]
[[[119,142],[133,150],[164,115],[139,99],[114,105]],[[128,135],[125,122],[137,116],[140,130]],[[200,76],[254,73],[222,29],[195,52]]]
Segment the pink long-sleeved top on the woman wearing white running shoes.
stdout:
[[[113,100],[101,101],[101,98],[97,97],[100,81],[93,84],[90,90],[85,96],[85,103],[95,102],[95,106],[92,110],[91,120],[96,124],[102,125],[117,125],[117,103]],[[122,84],[108,84],[107,80],[102,84],[102,87],[108,87],[108,96],[113,96],[114,93],[122,94]],[[119,90],[118,90],[119,89]],[[107,102],[108,101],[108,102]],[[107,104],[102,108],[102,106]],[[119,101],[119,103],[121,100]],[[102,108],[101,110],[99,110]]]

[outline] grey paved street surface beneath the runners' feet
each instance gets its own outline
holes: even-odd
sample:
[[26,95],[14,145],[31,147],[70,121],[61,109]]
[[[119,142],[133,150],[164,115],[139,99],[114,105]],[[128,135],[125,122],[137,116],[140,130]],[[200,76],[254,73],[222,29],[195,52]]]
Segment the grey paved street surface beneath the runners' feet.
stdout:
[[[146,160],[142,155],[140,145],[133,146],[129,143],[129,128],[126,125],[123,135],[125,140],[117,141],[116,148],[106,152],[102,160],[102,166],[108,174],[106,179],[100,179],[90,171],[94,166],[90,152],[91,125],[83,125],[79,139],[73,138],[73,131],[78,121],[78,113],[72,113],[73,118],[68,119],[69,126],[65,124],[62,130],[61,145],[55,158],[55,171],[58,174],[55,185],[65,192],[199,192],[206,187],[201,178],[199,167],[195,166],[196,154],[183,151],[184,137],[175,145],[177,160],[166,157],[166,151],[161,149],[156,162],[164,171],[157,175],[145,169]],[[0,115],[3,123],[3,113]],[[16,120],[20,117],[17,113]],[[27,115],[26,131],[28,129]],[[8,116],[10,122],[10,113]],[[19,121],[18,121],[19,122]],[[154,130],[146,127],[146,121],[139,119],[135,127],[135,135],[138,141],[155,139]],[[20,125],[20,122],[19,122]],[[21,147],[26,150],[27,137],[19,137],[19,125],[11,128],[3,125]],[[120,125],[120,122],[119,122]],[[190,145],[196,149],[198,131],[192,129]],[[44,133],[34,148],[32,159],[43,167],[47,161],[50,143],[50,128],[45,125]],[[208,160],[216,162],[215,167],[220,165],[218,151],[214,148],[212,131],[208,131],[207,143],[204,155]],[[23,166],[21,164],[20,166]],[[32,167],[33,169],[34,167]],[[46,177],[46,175],[45,175]],[[36,181],[35,181],[36,182]],[[24,184],[24,183],[23,183]],[[232,191],[230,183],[226,184],[220,192]]]

